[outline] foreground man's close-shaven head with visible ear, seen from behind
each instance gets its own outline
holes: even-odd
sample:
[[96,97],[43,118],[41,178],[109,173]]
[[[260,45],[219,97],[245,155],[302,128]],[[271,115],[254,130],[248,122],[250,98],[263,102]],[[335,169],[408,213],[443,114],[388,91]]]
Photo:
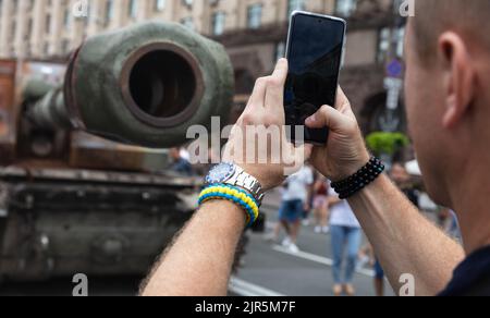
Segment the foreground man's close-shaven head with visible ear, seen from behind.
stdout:
[[490,176],[475,174],[490,164],[489,17],[490,0],[415,0],[408,23],[408,129],[427,189],[444,206]]

